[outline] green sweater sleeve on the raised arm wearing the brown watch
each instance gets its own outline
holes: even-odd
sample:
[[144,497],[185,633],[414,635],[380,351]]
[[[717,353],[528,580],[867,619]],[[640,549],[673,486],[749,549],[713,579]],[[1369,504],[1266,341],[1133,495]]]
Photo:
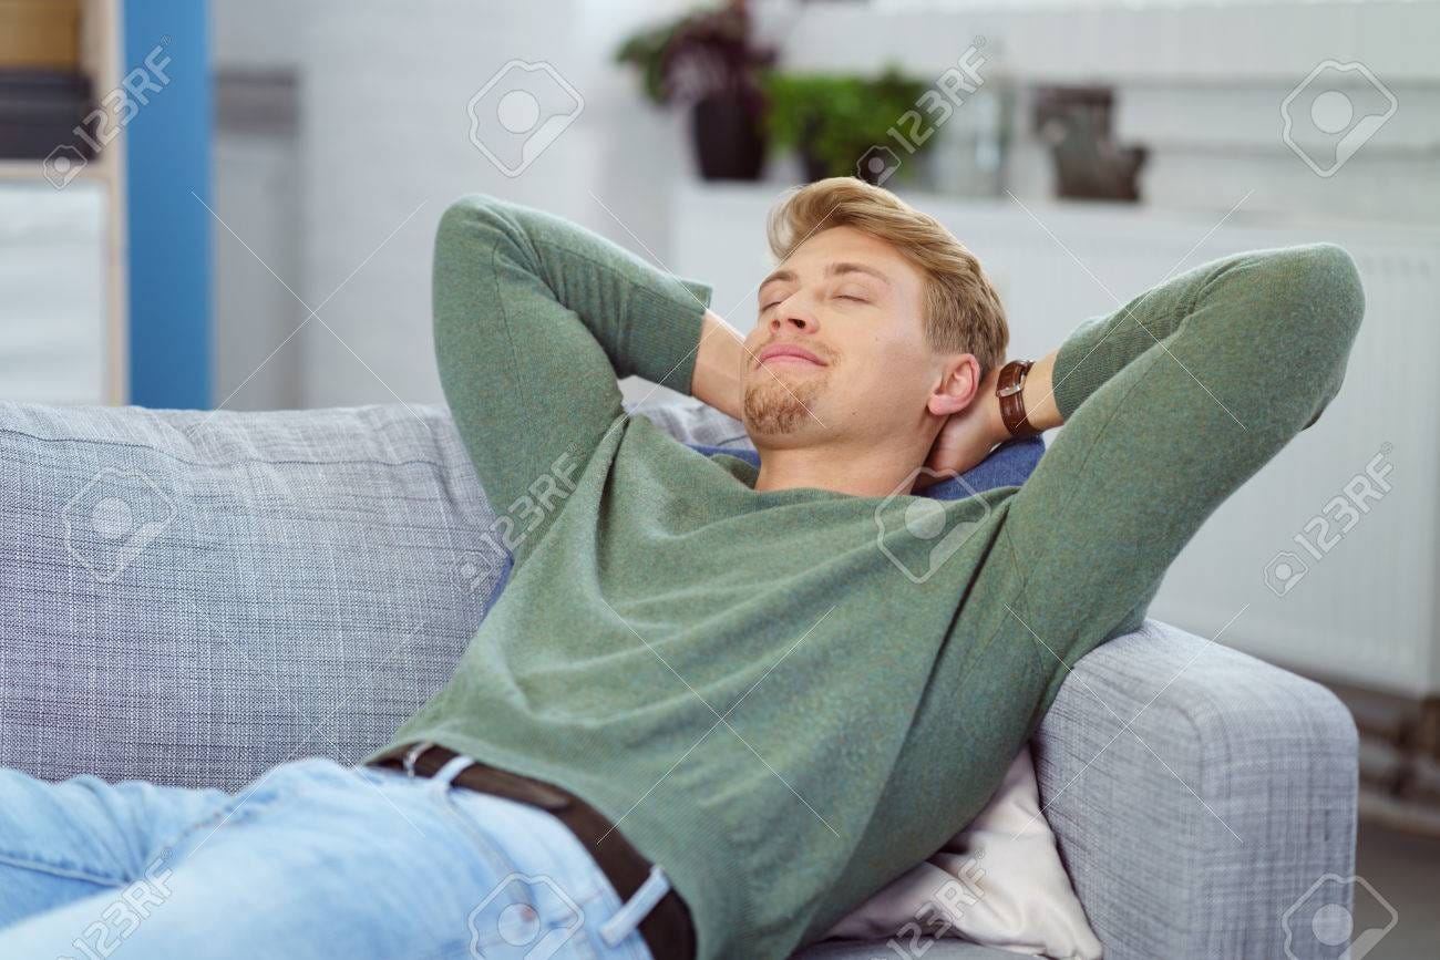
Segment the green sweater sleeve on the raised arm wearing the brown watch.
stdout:
[[[1143,622],[1215,508],[1335,399],[1364,312],[1349,253],[1312,243],[1197,266],[1061,344],[1066,425],[1005,504],[973,592],[1004,600],[992,649],[1024,652],[1045,685],[1035,723],[1079,658]],[[1260,587],[1273,553],[1236,563]]]

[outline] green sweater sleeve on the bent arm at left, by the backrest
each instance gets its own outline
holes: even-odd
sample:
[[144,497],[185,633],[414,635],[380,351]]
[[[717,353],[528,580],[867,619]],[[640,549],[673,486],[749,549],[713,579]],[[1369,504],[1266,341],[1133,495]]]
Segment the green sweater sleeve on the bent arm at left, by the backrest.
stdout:
[[516,564],[608,430],[618,377],[688,394],[711,288],[563,217],[471,194],[441,217],[433,325],[441,384]]

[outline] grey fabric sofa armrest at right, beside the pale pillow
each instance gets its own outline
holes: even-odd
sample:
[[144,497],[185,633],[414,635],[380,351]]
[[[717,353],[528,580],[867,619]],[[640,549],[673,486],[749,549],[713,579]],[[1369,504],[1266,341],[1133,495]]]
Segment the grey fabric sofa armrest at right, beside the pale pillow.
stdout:
[[1312,892],[1355,864],[1355,724],[1319,684],[1148,619],[1076,665],[1034,756],[1107,960],[1300,960],[1310,901],[1351,908]]

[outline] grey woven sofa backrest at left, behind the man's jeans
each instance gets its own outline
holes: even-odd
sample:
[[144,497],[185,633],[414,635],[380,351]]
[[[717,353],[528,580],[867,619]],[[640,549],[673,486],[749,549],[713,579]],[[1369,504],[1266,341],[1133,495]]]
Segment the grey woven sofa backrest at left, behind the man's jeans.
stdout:
[[0,764],[233,789],[451,672],[494,520],[444,407],[0,404]]

